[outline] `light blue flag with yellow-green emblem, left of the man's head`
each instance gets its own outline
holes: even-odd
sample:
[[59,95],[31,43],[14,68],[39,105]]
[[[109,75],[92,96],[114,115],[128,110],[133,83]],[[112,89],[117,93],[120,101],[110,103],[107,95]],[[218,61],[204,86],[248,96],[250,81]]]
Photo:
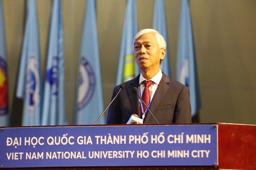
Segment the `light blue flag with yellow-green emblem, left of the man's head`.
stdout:
[[124,19],[116,85],[131,80],[140,73],[133,53],[133,38],[138,33],[136,0],[128,0]]

